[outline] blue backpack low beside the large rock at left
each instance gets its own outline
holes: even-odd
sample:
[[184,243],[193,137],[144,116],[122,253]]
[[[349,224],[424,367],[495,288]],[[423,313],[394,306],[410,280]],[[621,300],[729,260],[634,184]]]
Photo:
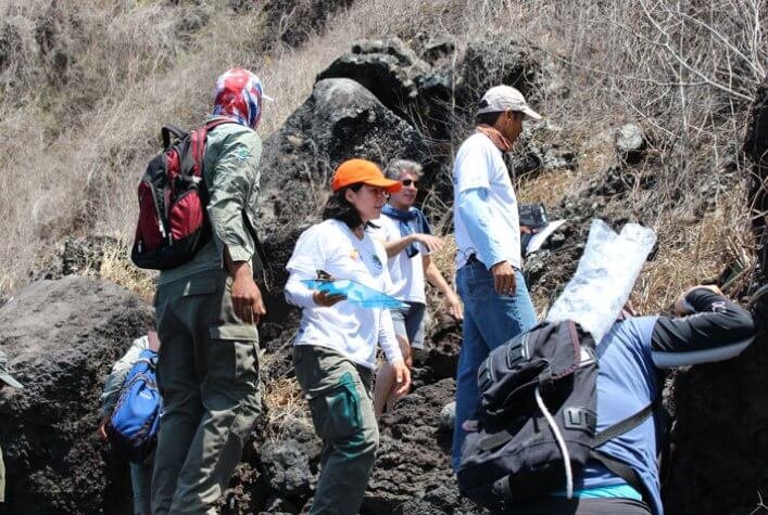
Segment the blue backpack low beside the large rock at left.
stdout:
[[155,366],[158,352],[142,350],[123,383],[119,399],[106,423],[112,450],[134,463],[142,463],[158,443],[162,400]]

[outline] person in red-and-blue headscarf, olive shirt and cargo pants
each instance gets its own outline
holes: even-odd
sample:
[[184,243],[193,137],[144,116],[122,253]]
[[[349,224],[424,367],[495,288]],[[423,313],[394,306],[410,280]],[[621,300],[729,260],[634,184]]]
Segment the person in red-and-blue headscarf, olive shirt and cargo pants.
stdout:
[[261,409],[259,334],[266,314],[253,281],[263,87],[242,68],[216,81],[203,180],[213,237],[191,261],[163,270],[155,316],[163,346],[163,413],[152,513],[215,514]]

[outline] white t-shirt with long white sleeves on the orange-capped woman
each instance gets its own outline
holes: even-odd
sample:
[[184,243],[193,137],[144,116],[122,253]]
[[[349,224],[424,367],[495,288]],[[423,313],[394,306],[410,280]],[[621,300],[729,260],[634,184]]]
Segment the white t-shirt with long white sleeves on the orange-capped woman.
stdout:
[[324,270],[336,279],[351,279],[391,294],[386,261],[387,253],[379,242],[367,233],[358,240],[339,220],[325,220],[304,231],[286,266],[291,273],[286,298],[304,308],[294,345],[328,347],[370,369],[376,365],[377,343],[390,362],[402,359],[388,309],[363,308],[345,300],[320,307],[300,283],[301,279],[315,279],[317,270]]

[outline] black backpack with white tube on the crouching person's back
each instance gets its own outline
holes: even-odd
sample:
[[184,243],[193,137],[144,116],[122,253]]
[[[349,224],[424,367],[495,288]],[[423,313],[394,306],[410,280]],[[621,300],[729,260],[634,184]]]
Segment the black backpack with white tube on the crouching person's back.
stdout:
[[649,499],[631,467],[595,449],[642,423],[654,404],[595,435],[594,347],[572,321],[543,322],[490,353],[478,373],[480,427],[467,434],[457,471],[462,494],[503,512],[565,489],[566,468],[572,479],[595,459]]

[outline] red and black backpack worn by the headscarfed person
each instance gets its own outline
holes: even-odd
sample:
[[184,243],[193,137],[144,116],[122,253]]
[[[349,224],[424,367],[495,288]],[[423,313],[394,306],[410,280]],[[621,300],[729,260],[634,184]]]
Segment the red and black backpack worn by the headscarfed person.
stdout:
[[139,222],[130,259],[139,268],[167,270],[191,260],[211,237],[203,160],[207,132],[230,123],[209,121],[190,133],[166,126],[163,151],[139,182]]

